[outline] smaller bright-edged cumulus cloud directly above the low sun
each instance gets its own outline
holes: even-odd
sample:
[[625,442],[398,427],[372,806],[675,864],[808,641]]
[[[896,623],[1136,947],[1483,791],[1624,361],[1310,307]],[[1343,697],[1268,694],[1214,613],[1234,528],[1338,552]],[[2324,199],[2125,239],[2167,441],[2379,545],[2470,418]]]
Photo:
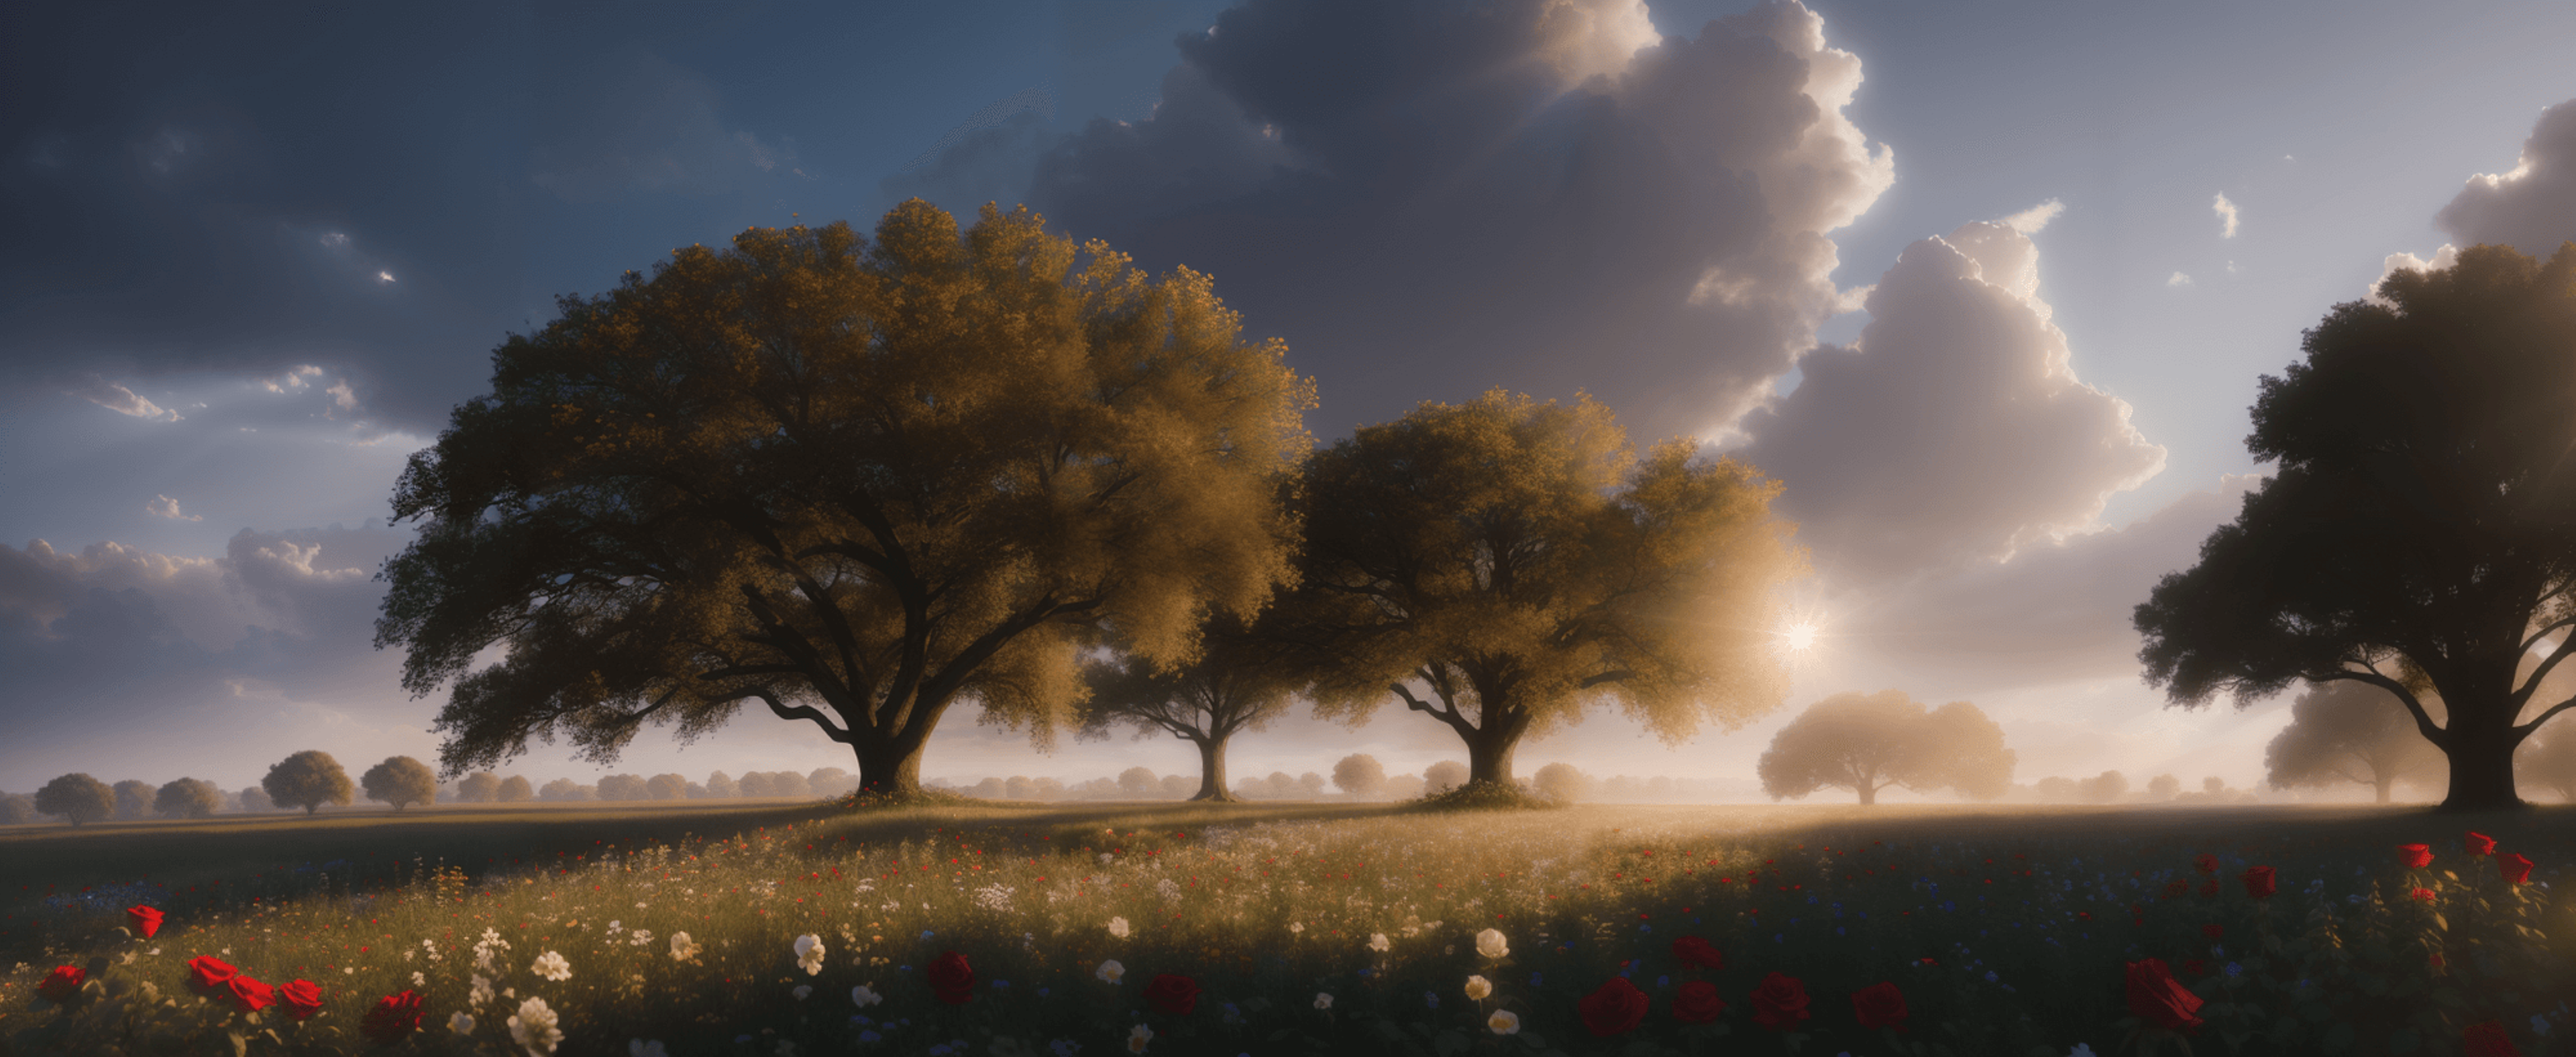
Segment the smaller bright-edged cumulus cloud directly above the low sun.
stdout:
[[1904,250],[1852,348],[1819,348],[1795,392],[1747,418],[1747,459],[1816,567],[1870,585],[2002,559],[2087,531],[2164,469],[2128,402],[2076,379],[2038,296],[2038,247],[1973,222]]

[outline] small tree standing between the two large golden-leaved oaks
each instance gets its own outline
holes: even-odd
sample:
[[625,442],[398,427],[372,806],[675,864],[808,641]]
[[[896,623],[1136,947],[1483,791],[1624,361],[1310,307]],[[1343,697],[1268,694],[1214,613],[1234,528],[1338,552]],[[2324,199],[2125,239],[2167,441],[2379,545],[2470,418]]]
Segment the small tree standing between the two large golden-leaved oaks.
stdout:
[[1079,737],[1131,727],[1136,737],[1172,735],[1198,748],[1198,791],[1190,799],[1234,802],[1226,789],[1226,742],[1270,727],[1298,688],[1293,663],[1257,626],[1224,616],[1200,634],[1198,660],[1157,670],[1144,657],[1090,660],[1090,699],[1077,709]]

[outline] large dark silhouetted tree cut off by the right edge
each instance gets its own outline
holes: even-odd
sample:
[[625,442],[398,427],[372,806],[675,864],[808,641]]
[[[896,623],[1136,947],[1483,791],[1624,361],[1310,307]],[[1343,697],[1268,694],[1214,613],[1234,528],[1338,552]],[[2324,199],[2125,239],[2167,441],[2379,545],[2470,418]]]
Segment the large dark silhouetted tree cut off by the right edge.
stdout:
[[2380,294],[2262,379],[2246,449],[2277,469],[2138,606],[2138,660],[2179,706],[2370,683],[2450,758],[2445,810],[2517,807],[2514,748],[2576,704],[2532,699],[2576,652],[2576,245]]

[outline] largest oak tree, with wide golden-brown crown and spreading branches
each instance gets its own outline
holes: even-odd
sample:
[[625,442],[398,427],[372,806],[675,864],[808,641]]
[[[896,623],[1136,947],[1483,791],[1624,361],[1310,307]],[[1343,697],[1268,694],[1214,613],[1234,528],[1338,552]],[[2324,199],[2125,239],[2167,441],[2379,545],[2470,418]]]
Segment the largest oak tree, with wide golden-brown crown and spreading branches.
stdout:
[[559,304],[394,495],[376,642],[453,683],[448,773],[757,701],[912,797],[951,704],[1046,742],[1103,626],[1185,663],[1291,575],[1311,382],[1188,268],[907,201],[873,245],[750,229]]

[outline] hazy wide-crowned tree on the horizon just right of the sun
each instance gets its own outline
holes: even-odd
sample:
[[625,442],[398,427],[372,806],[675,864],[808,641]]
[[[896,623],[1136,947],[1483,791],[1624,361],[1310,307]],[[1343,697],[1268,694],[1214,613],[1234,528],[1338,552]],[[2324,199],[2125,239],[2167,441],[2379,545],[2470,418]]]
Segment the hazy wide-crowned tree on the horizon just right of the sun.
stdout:
[[1984,709],[1968,701],[1932,709],[1904,691],[1878,691],[1806,706],[1772,735],[1757,773],[1770,799],[1806,799],[1829,786],[1860,794],[1862,804],[1875,804],[1886,786],[1996,799],[2012,789],[2014,761]]

